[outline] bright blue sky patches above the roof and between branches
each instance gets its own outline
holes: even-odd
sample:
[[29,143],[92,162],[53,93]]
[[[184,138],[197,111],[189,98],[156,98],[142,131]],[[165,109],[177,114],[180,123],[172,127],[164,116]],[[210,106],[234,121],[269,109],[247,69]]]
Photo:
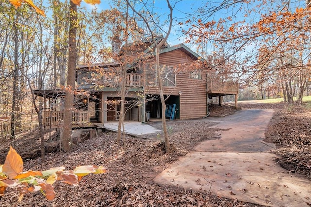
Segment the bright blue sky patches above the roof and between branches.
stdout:
[[[168,7],[167,7],[167,2],[166,0],[154,0],[151,1],[149,0],[148,2],[154,2],[154,12],[157,13],[158,16],[160,16],[161,21],[165,21],[168,17]],[[195,13],[198,8],[205,8],[207,7],[206,5],[208,4],[208,7],[211,5],[219,5],[222,3],[222,0],[170,0],[170,3],[172,6],[175,6],[173,9],[173,18],[174,18],[174,26],[172,28],[171,34],[168,39],[168,43],[170,45],[176,45],[180,43],[185,42],[185,36],[181,34],[181,26],[178,24],[178,22],[185,22],[190,14]],[[255,5],[260,4],[261,1],[255,1],[252,4],[249,4],[248,6],[250,7],[249,9],[253,8]],[[258,10],[258,13],[256,11],[252,12],[252,15],[250,15],[248,18],[245,18],[245,14],[243,10],[239,10],[239,6],[235,7],[232,9],[232,7],[229,7],[229,9],[222,9],[221,11],[218,11],[216,14],[214,14],[212,17],[210,17],[208,20],[215,20],[218,21],[220,18],[226,18],[227,16],[235,17],[235,20],[233,21],[241,21],[242,19],[246,19],[246,23],[251,23],[251,21],[258,21],[260,18],[259,13],[260,12],[267,12],[270,11],[273,7],[276,7],[277,4],[281,3],[281,1],[268,1],[268,4],[265,6],[265,8],[260,7],[256,8]],[[293,9],[295,9],[297,6],[303,7],[304,6],[304,1],[303,0],[291,0],[290,4]],[[98,11],[109,9],[110,6],[113,4],[112,0],[101,0],[101,3],[99,5],[96,5]],[[89,9],[92,9],[93,6],[91,5],[86,5],[85,3],[82,3],[81,6],[85,6]],[[207,7],[207,8],[208,8]],[[196,14],[198,14],[196,12]],[[204,18],[204,16],[202,16]],[[187,29],[187,28],[184,28]],[[167,28],[164,26],[163,27],[164,31],[167,31]],[[188,47],[190,47],[193,51],[196,51],[196,46],[193,44],[186,44]],[[246,47],[249,47],[249,49],[253,49],[254,45],[250,44]],[[249,50],[247,49],[247,51]],[[213,47],[208,46],[208,51],[211,52],[213,51]],[[247,53],[247,52],[246,52]]]

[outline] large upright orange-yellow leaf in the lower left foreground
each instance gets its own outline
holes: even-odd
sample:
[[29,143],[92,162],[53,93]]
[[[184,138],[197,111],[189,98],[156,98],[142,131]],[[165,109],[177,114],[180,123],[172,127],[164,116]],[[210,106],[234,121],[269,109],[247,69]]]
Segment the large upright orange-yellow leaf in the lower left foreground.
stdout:
[[11,146],[2,168],[3,173],[10,179],[14,178],[23,171],[23,160]]

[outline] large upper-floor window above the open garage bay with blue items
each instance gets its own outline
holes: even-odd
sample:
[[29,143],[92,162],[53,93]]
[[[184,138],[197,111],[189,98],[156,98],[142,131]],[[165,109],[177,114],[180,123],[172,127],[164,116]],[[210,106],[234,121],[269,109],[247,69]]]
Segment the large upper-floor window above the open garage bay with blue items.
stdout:
[[[162,86],[176,86],[176,75],[173,67],[160,65]],[[155,64],[146,65],[146,83],[155,86],[158,83]]]

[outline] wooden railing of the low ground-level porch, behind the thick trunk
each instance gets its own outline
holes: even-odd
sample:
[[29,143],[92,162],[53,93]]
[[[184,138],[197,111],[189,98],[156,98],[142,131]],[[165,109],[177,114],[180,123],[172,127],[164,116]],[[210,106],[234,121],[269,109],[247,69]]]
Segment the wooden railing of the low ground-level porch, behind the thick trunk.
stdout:
[[[63,124],[64,112],[62,111],[43,111],[42,124],[43,126],[57,126]],[[72,124],[73,125],[87,125],[89,124],[89,112],[88,111],[74,111],[72,112]]]

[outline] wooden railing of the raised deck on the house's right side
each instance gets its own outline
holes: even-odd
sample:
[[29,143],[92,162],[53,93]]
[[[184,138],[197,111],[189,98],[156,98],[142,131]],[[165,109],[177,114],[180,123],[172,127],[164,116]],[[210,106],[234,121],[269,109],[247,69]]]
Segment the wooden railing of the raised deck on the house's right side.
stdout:
[[222,93],[238,93],[239,84],[233,83],[233,82],[208,81],[207,91],[208,92],[222,92]]

